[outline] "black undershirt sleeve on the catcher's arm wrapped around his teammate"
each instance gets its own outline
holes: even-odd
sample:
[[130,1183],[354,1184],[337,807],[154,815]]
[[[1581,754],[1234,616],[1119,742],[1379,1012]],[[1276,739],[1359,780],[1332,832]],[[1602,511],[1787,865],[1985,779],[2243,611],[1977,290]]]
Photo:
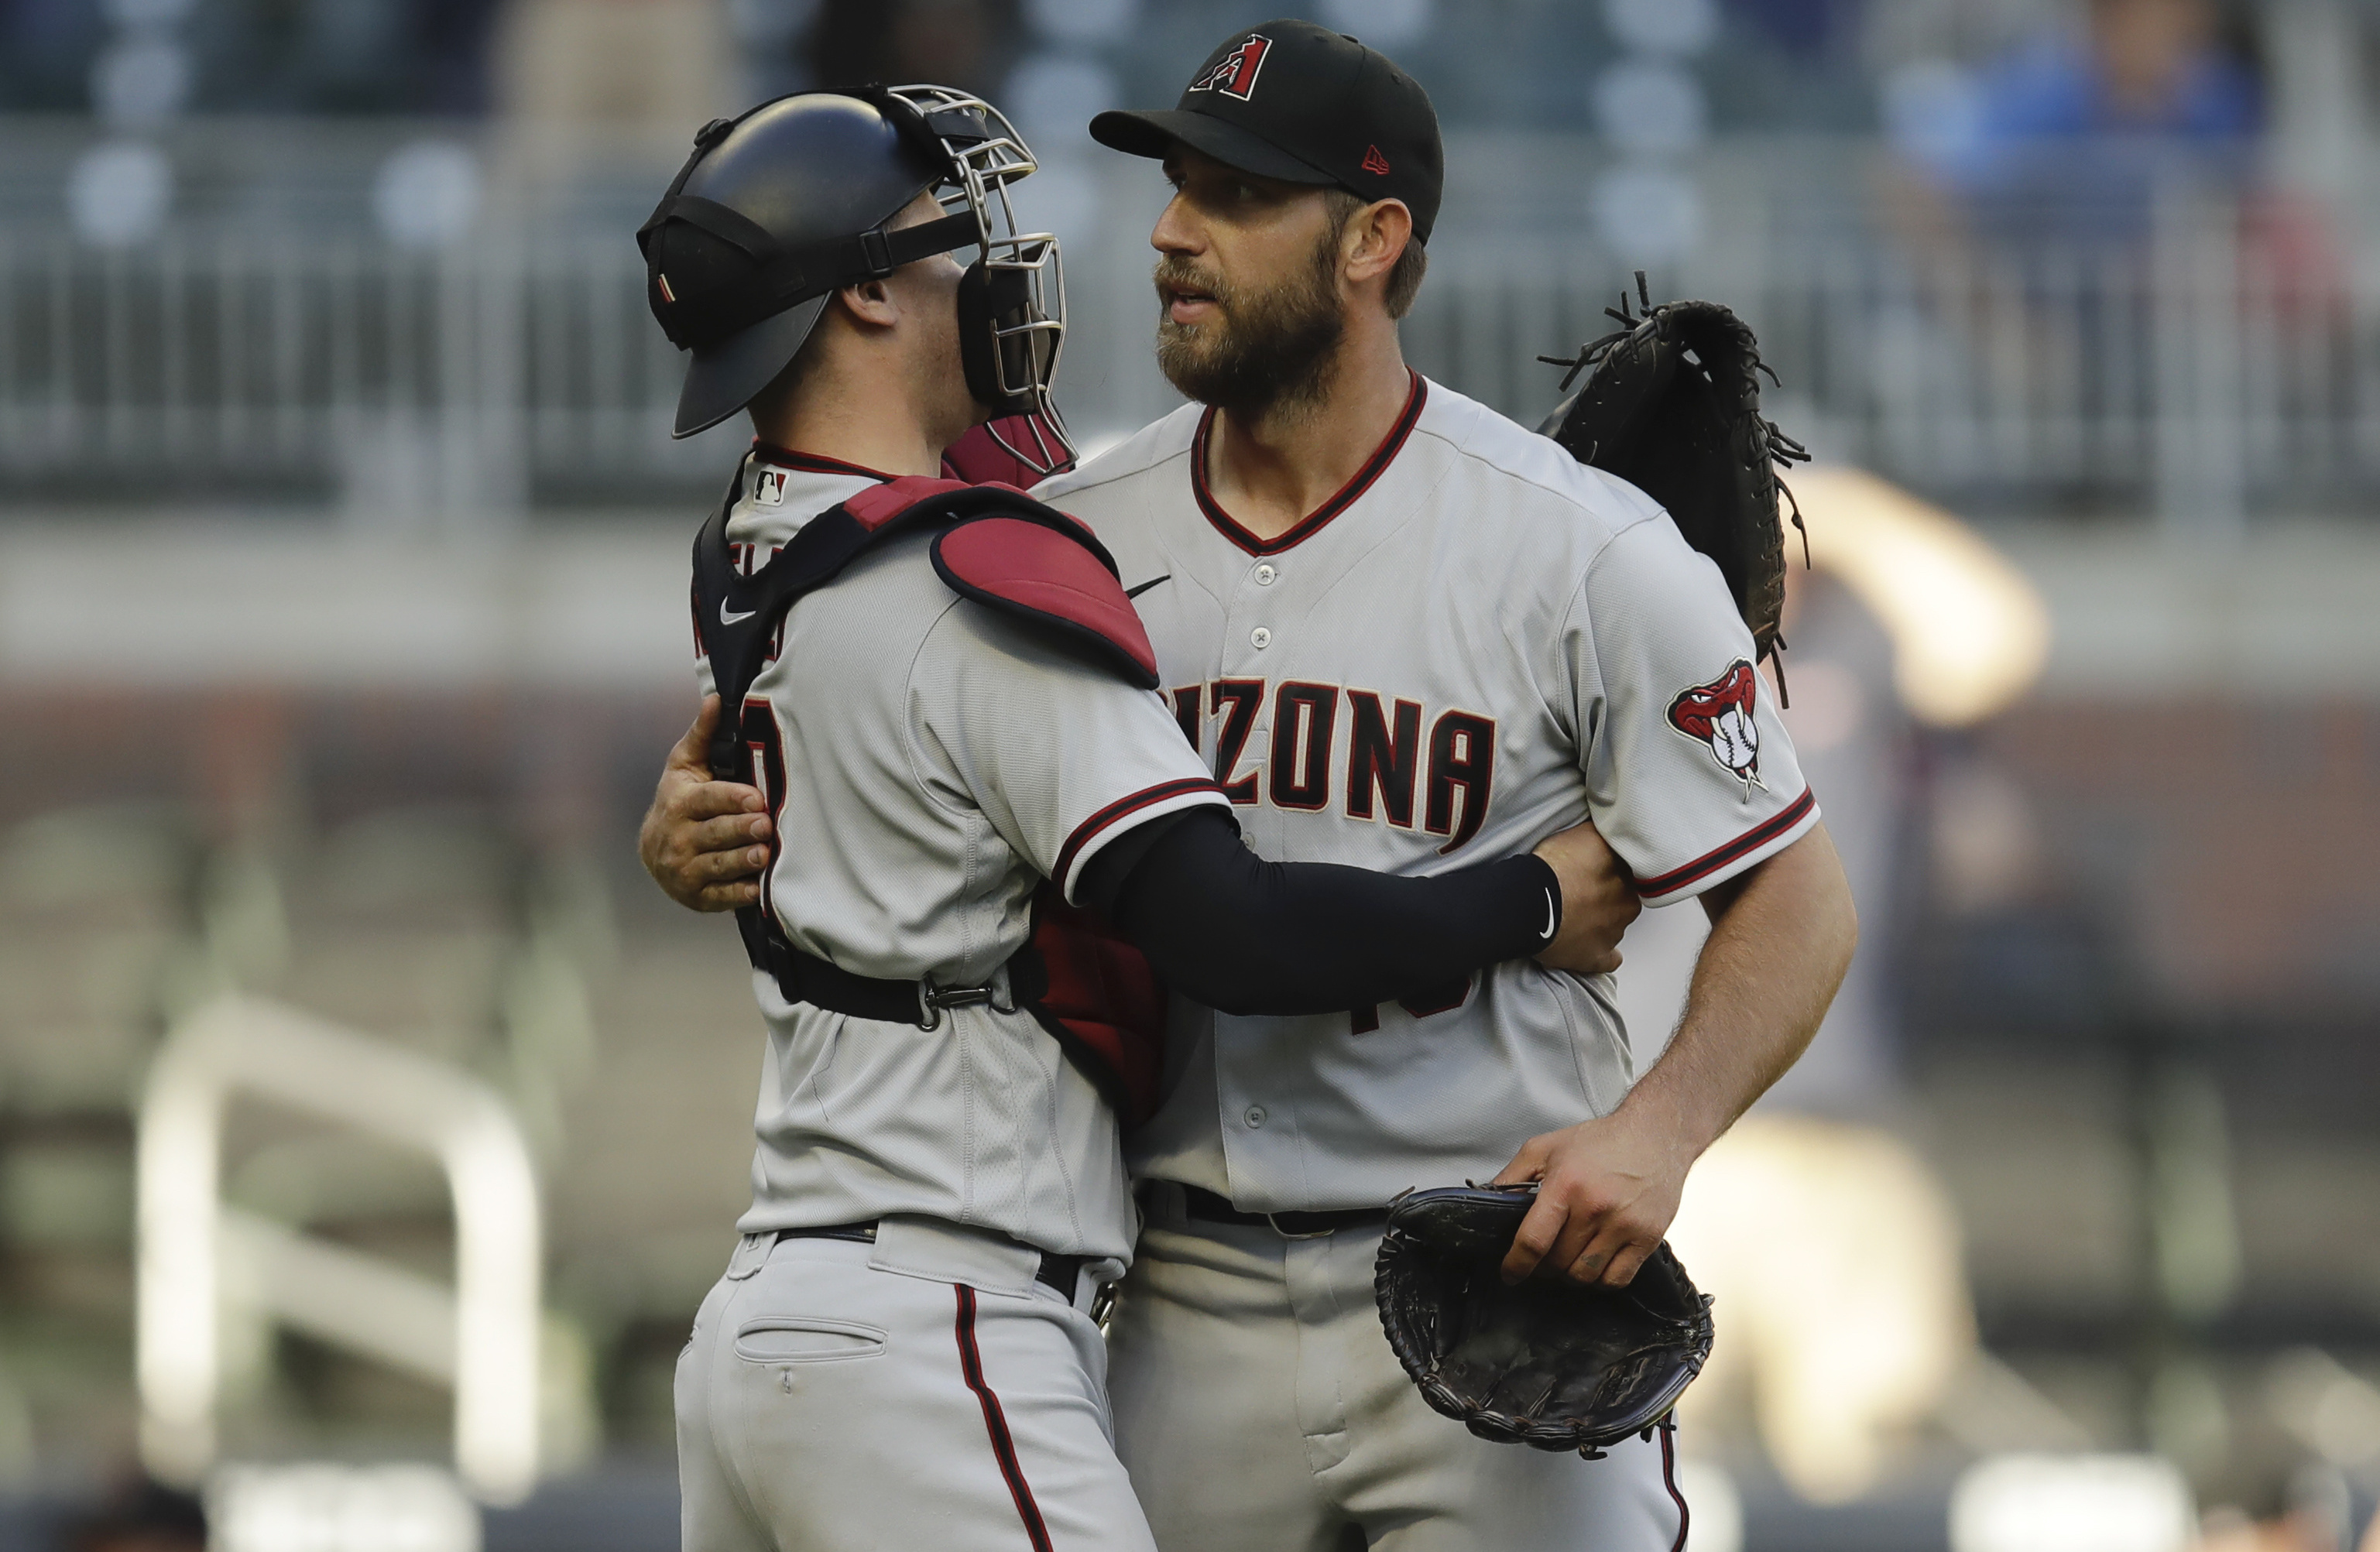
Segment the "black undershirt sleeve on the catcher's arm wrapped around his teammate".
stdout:
[[1152,819],[1090,862],[1078,897],[1173,990],[1226,1014],[1323,1014],[1421,997],[1533,955],[1561,924],[1537,857],[1435,878],[1264,862],[1216,807]]

